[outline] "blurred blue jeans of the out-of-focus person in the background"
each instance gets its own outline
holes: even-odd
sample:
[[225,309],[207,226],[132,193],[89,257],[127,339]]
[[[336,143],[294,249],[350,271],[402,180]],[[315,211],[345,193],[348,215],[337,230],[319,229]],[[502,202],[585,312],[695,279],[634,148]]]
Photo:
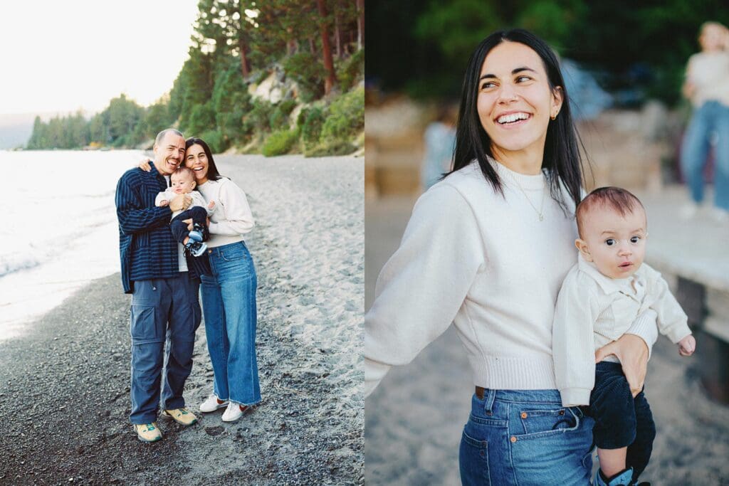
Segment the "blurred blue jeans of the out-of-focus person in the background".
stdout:
[[706,101],[695,110],[681,147],[681,169],[696,203],[703,200],[703,168],[712,133],[717,136],[714,205],[729,211],[729,106]]

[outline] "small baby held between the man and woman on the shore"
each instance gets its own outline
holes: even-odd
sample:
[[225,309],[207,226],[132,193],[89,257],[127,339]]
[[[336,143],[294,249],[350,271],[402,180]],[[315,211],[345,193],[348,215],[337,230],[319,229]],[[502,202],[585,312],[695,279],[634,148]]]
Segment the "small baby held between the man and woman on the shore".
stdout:
[[[172,213],[170,229],[175,240],[182,243],[188,254],[200,256],[205,253],[208,246],[203,243],[207,239],[206,219],[215,207],[215,201],[206,205],[205,199],[200,192],[195,191],[195,173],[187,167],[180,167],[170,176],[171,186],[165,192],[160,192],[155,197],[155,205],[169,205],[170,200],[178,194],[188,194],[192,197],[192,204],[186,211]],[[187,219],[192,219],[192,230],[188,231]]]

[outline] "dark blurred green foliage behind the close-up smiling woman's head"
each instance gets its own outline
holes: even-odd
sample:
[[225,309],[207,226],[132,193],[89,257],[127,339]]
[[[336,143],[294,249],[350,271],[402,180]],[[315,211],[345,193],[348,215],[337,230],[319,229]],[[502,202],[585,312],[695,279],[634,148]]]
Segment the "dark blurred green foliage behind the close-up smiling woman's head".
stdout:
[[457,98],[472,50],[488,34],[527,28],[609,91],[679,101],[686,62],[707,20],[729,23],[726,0],[367,1],[367,78],[384,91]]

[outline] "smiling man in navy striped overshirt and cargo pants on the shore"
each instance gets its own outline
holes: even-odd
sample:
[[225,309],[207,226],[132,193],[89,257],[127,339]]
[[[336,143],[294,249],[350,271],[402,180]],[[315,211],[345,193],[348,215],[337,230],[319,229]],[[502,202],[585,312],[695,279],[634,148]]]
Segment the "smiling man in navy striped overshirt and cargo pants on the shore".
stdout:
[[[157,428],[163,362],[166,361],[162,415],[183,426],[198,419],[184,407],[182,391],[192,369],[192,347],[200,325],[200,281],[170,231],[173,211],[192,202],[178,195],[166,207],[155,196],[168,187],[169,176],[184,159],[184,137],[168,128],[155,139],[152,171],[126,171],[117,184],[119,250],[122,284],[132,294],[131,413],[129,419],[144,442],[162,439]],[[165,340],[168,340],[165,355]]]

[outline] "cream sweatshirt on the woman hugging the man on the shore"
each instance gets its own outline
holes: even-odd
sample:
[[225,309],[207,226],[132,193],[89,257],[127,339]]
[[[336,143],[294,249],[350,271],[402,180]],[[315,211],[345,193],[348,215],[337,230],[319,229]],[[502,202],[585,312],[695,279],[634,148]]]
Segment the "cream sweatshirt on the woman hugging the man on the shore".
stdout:
[[252,230],[254,225],[251,207],[243,189],[223,177],[200,184],[198,190],[208,203],[215,201],[210,216],[208,248],[243,241],[243,235]]

